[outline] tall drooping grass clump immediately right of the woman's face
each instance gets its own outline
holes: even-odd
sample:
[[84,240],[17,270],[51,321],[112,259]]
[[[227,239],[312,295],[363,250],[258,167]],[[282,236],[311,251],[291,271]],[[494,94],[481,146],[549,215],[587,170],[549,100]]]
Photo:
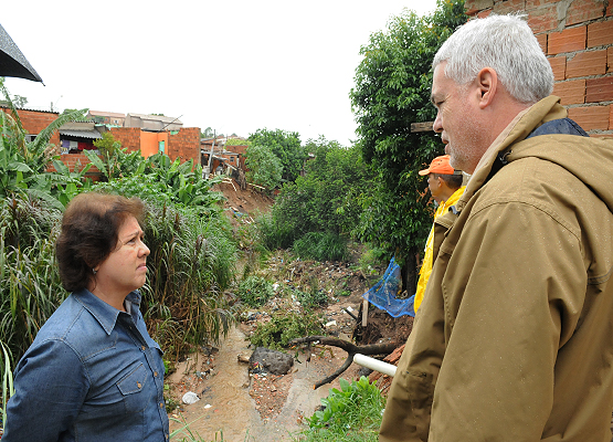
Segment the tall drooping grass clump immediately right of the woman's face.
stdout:
[[151,254],[142,287],[150,333],[175,359],[190,345],[216,343],[234,322],[236,246],[221,217],[148,201]]

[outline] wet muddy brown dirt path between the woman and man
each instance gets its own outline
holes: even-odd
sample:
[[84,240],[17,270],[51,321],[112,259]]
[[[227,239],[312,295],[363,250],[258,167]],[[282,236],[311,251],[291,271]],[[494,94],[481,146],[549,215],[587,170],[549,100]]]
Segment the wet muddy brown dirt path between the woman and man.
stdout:
[[[328,389],[338,388],[338,380],[318,390],[313,385],[339,367],[345,351],[318,349],[313,352],[310,362],[306,355],[298,357],[294,369],[283,377],[250,378],[247,365],[237,361],[237,355],[250,354],[249,343],[239,328],[233,328],[223,340],[219,352],[214,355],[213,373],[208,379],[194,373],[210,369],[210,358],[200,355],[182,362],[177,371],[168,378],[168,383],[177,397],[186,390],[200,396],[191,406],[182,406],[182,411],[175,413],[175,419],[184,419],[190,430],[203,441],[221,440],[229,442],[268,442],[292,441],[292,433],[304,428],[304,417],[313,414],[320,404],[320,399],[328,396]],[[359,367],[350,368],[344,377],[352,379]],[[267,391],[262,391],[262,390]],[[172,415],[171,415],[172,417]],[[177,430],[181,423],[171,422],[170,430]],[[186,436],[187,433],[183,433]],[[177,434],[173,440],[181,440]]]

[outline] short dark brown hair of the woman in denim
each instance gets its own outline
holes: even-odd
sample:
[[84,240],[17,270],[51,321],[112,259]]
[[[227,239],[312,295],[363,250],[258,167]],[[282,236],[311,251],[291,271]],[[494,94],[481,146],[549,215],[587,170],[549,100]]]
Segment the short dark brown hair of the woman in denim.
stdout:
[[98,192],[73,198],[55,243],[60,278],[66,291],[87,287],[93,269],[115,250],[119,228],[130,215],[142,225],[145,204],[140,199]]

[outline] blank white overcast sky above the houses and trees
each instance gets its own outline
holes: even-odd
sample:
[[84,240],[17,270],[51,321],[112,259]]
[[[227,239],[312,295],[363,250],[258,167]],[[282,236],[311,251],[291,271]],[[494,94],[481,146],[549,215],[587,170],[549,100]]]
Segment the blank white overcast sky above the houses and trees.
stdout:
[[3,1],[0,24],[44,81],[7,78],[39,109],[163,114],[184,127],[357,138],[360,46],[435,0]]

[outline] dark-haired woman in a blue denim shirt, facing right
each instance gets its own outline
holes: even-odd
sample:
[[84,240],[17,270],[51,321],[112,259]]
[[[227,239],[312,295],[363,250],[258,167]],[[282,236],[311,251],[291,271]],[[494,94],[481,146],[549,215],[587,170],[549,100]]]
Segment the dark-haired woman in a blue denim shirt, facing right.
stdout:
[[74,198],[56,243],[72,292],[15,368],[2,442],[168,441],[163,362],[139,311],[147,255],[138,199]]

